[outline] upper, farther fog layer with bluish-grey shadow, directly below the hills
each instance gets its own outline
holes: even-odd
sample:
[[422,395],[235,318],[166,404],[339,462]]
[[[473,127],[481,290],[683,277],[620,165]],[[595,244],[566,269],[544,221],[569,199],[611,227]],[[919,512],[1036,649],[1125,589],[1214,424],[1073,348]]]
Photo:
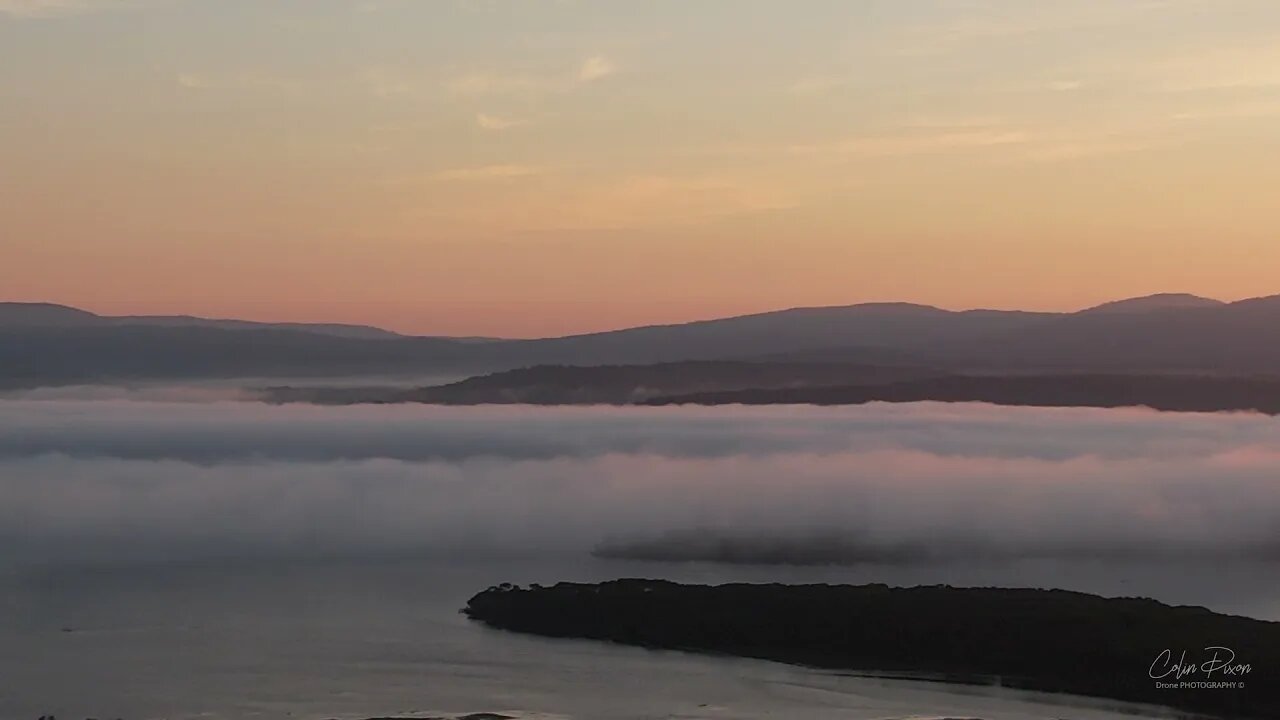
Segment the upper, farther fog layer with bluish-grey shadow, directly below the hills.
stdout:
[[915,450],[940,456],[1199,459],[1276,447],[1251,414],[873,404],[854,407],[317,407],[128,400],[0,401],[0,460],[196,464],[605,455],[737,457]]

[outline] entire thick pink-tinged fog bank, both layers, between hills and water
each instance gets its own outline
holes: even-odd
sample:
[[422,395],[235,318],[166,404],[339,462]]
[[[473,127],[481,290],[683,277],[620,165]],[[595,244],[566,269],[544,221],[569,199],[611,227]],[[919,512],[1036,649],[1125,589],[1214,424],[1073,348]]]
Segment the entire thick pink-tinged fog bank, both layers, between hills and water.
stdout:
[[986,406],[3,402],[0,543],[17,562],[1275,560],[1277,441],[1260,416]]

